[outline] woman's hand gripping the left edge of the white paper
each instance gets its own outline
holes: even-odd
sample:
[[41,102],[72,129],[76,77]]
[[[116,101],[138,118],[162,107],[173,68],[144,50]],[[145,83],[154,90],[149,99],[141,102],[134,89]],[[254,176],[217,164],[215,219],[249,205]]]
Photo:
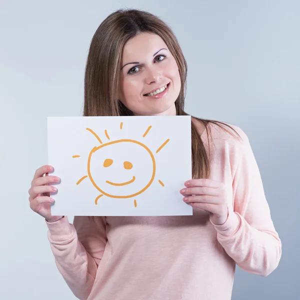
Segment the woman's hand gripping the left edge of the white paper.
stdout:
[[43,165],[38,168],[28,190],[30,208],[43,216],[48,222],[55,222],[63,217],[62,215],[51,215],[51,203],[54,202],[54,199],[50,198],[49,193],[55,192],[57,188],[50,186],[49,183],[58,183],[60,179],[57,176],[48,175],[48,172],[52,169],[50,165]]

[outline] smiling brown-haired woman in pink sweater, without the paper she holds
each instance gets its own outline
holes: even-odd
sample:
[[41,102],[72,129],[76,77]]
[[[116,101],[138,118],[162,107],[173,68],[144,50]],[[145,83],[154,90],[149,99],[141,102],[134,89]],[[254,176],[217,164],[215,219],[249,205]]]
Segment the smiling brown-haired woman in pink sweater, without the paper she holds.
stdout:
[[[90,44],[84,115],[184,115],[185,79],[171,29],[150,13],[118,10]],[[45,218],[56,265],[76,297],[229,300],[235,264],[261,276],[276,268],[281,242],[246,134],[196,117],[191,134],[192,178],[178,193],[192,216],[75,216],[71,224],[50,213],[47,184],[59,181],[44,176],[52,166],[36,170],[30,207]]]

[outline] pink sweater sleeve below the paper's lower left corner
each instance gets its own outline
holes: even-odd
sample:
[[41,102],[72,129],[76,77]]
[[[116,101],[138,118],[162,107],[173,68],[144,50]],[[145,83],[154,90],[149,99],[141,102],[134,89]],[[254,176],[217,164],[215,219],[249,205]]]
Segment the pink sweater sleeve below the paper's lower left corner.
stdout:
[[65,282],[79,299],[86,299],[95,280],[97,267],[106,244],[106,218],[67,216],[47,222],[48,239],[56,266]]

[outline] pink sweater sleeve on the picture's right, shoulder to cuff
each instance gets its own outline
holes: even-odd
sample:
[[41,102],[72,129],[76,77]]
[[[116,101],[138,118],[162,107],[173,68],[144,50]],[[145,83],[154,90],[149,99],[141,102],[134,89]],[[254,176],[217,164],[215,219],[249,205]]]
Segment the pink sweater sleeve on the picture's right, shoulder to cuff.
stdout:
[[267,276],[278,265],[281,241],[275,231],[265,198],[260,172],[248,137],[240,129],[241,146],[234,156],[237,166],[232,180],[233,211],[227,220],[214,225],[217,240],[243,270]]

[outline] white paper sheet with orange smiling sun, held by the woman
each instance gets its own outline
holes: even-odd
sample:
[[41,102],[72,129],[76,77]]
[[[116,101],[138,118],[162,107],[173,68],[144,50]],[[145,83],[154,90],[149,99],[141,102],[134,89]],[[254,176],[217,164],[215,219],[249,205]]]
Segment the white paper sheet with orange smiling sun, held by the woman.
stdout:
[[190,116],[48,117],[52,215],[192,215]]

